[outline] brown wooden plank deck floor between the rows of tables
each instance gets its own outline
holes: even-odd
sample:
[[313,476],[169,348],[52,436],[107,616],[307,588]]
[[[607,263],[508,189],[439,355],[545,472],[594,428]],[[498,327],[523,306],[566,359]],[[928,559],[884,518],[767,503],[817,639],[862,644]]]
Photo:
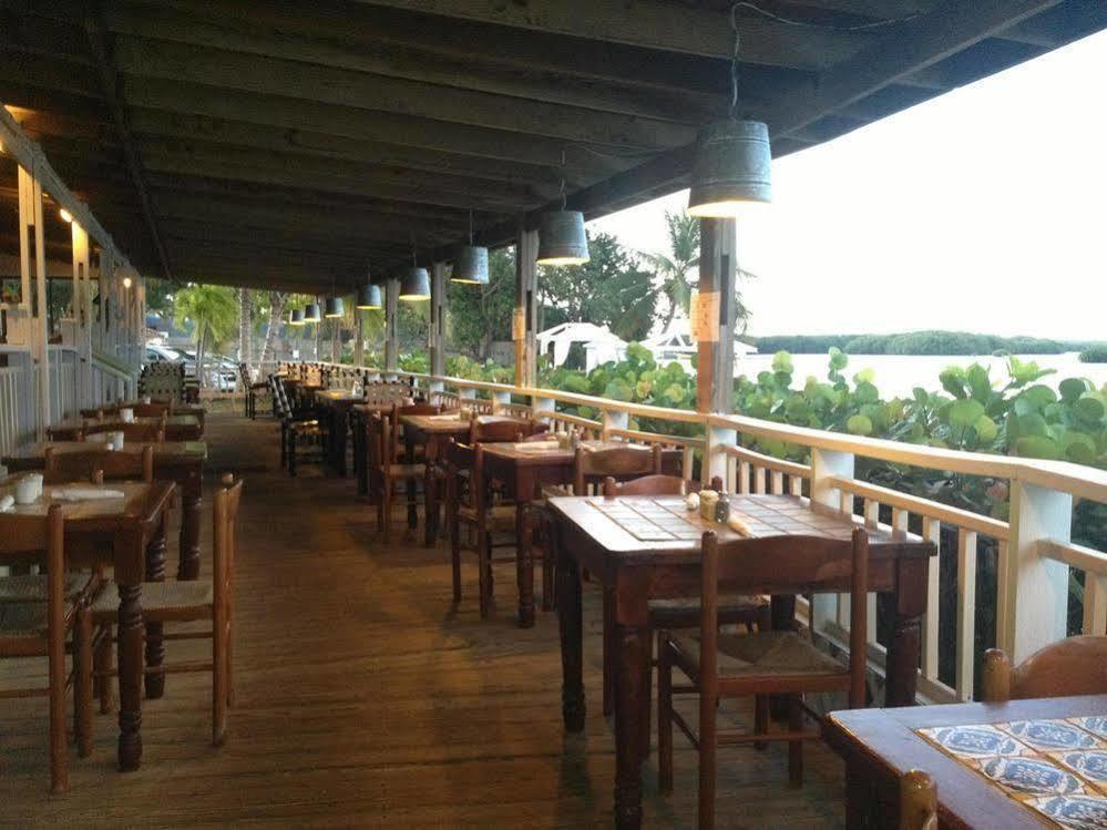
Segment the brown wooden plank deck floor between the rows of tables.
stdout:
[[[385,545],[349,479],[283,475],[271,421],[208,424],[211,478],[246,479],[227,745],[208,744],[207,677],[171,676],[165,698],[144,706],[143,768],[115,771],[115,718],[104,716],[93,756],[71,751],[70,792],[50,797],[44,699],[3,701],[0,826],[608,827],[598,593],[585,591],[587,729],[566,736],[556,618],[515,627],[510,567],[496,574],[498,615],[482,623],[472,587],[450,602],[444,545]],[[475,585],[472,562],[464,577]],[[172,658],[194,644],[168,646]],[[14,670],[0,667],[0,680]],[[695,754],[676,745],[677,796],[658,797],[646,767],[649,828],[695,824]],[[842,824],[837,757],[810,745],[801,790],[787,787],[785,759],[782,746],[721,755],[720,827]]]

